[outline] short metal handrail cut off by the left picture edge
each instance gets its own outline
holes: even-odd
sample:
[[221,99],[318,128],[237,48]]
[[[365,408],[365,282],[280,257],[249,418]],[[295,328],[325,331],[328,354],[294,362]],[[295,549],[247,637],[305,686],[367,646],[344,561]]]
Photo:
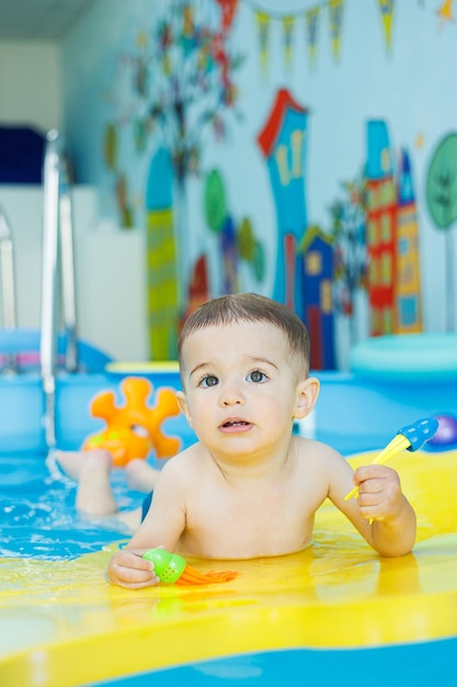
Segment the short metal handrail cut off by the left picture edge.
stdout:
[[[0,280],[2,301],[2,326],[4,329],[16,328],[16,303],[15,303],[15,271],[14,271],[14,246],[11,225],[4,211],[0,207]],[[18,371],[16,353],[7,353],[2,373],[15,373]]]

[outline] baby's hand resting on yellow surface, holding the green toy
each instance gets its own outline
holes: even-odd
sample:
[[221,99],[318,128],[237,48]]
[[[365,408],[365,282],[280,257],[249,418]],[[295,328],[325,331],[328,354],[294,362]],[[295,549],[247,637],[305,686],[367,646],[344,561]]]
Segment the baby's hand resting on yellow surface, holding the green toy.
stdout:
[[153,570],[153,563],[141,558],[145,549],[122,549],[116,551],[107,565],[108,582],[126,587],[140,589],[157,585],[160,579]]

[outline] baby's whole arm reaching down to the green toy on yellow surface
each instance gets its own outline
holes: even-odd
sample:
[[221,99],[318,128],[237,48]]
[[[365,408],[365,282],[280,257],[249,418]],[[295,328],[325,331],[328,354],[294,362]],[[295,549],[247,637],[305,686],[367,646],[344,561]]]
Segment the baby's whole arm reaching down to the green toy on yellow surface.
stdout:
[[[173,552],[185,528],[185,508],[180,480],[163,468],[149,511],[125,549],[116,551],[106,571],[107,579],[122,587],[138,589],[158,584],[153,563],[142,559],[148,549]],[[173,472],[173,471],[171,471]]]

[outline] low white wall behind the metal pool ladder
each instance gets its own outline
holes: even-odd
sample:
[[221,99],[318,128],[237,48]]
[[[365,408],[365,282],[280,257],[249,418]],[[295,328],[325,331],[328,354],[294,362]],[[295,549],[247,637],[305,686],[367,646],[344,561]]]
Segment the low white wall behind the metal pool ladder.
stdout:
[[[76,187],[72,200],[79,338],[117,360],[145,360],[142,234],[100,224],[96,192],[90,187]],[[0,185],[0,206],[13,232],[18,326],[39,329],[43,191]],[[0,303],[0,323],[1,315]]]

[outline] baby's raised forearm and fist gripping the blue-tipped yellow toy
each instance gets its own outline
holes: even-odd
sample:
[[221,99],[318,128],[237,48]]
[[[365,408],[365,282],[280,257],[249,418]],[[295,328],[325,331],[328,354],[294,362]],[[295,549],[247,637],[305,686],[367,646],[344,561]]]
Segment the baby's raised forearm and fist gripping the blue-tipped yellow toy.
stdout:
[[[341,461],[332,465],[331,500],[378,553],[410,553],[415,541],[415,514],[401,491],[398,473],[387,465],[372,464],[352,474],[347,461]],[[345,500],[354,485],[358,486],[358,497]]]

